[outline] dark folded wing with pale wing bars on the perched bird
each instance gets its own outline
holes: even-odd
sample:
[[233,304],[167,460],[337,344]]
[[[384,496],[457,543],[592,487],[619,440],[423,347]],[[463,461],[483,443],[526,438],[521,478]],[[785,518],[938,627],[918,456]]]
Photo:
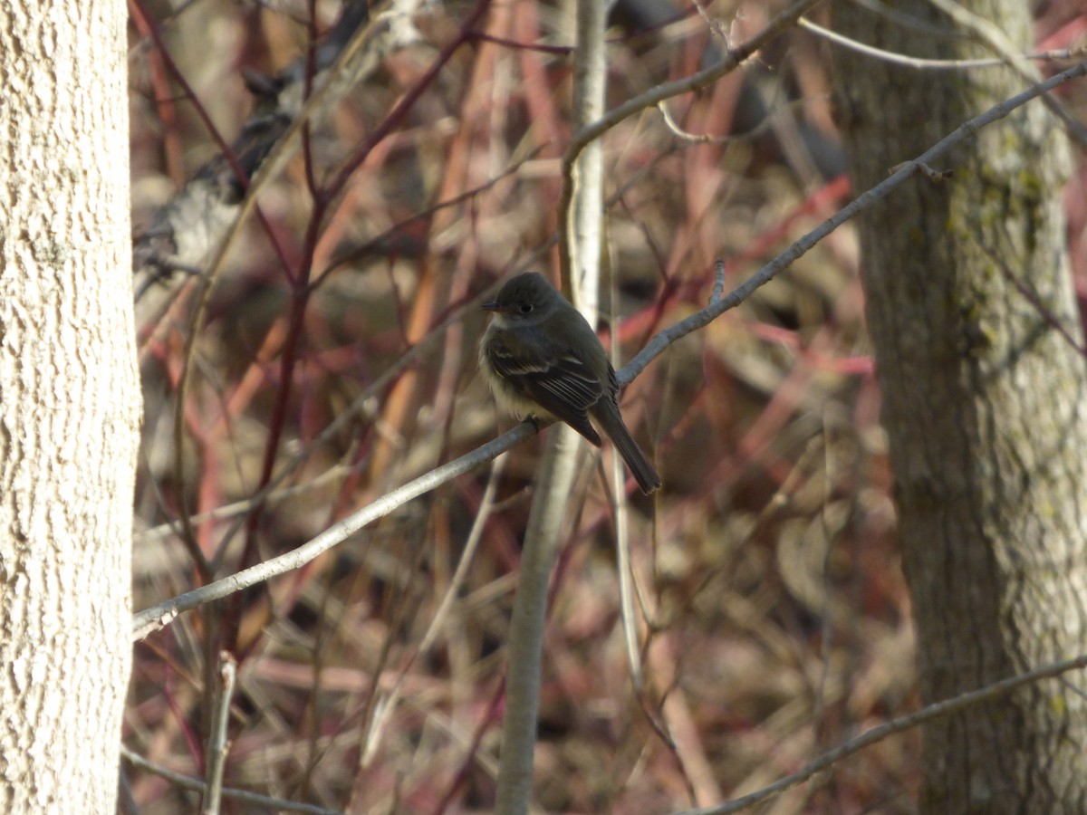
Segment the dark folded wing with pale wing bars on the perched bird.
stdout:
[[530,353],[525,347],[514,354],[501,342],[491,342],[487,359],[499,376],[600,447],[600,436],[589,423],[588,411],[600,399],[603,388],[577,356]]

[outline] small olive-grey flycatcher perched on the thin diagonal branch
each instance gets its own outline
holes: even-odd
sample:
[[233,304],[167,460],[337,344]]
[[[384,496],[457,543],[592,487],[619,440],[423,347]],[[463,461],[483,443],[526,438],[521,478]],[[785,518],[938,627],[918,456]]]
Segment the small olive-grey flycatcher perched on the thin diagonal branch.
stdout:
[[619,381],[604,347],[580,312],[541,275],[518,275],[492,303],[479,368],[498,402],[521,417],[558,418],[600,447],[597,423],[641,491],[661,486],[619,412]]

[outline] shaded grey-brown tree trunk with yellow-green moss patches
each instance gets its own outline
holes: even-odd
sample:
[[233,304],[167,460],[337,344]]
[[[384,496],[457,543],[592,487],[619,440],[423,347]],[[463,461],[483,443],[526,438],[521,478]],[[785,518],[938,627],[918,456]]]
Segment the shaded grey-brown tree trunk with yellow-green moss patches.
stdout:
[[[975,0],[1026,52],[1027,4]],[[928,2],[900,11],[951,28]],[[835,5],[847,36],[911,57],[991,57]],[[836,50],[858,191],[1025,83]],[[921,691],[934,702],[1087,651],[1087,378],[1065,255],[1061,126],[1038,102],[860,221]],[[1069,337],[1054,328],[1060,324]],[[1059,680],[930,725],[922,812],[1087,811],[1087,703]]]

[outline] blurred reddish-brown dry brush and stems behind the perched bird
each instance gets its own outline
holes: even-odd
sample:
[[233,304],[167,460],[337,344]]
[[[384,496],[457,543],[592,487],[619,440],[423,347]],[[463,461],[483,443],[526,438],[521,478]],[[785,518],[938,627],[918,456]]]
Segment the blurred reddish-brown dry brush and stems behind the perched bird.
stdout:
[[[744,39],[773,5],[737,15],[719,3],[710,14]],[[1044,47],[1074,45],[1076,12],[1065,5],[1048,9]],[[251,104],[239,67],[273,74],[307,45],[304,3],[154,11],[227,139]],[[323,29],[338,7],[316,11]],[[201,582],[179,539],[184,512],[242,502],[193,523],[215,576],[227,575],[511,425],[476,374],[477,305],[511,272],[558,267],[550,238],[571,82],[558,46],[572,37],[554,8],[496,4],[479,29],[493,39],[475,38],[428,79],[470,11],[422,12],[417,42],[385,59],[260,196],[264,225],[247,223],[198,328],[179,468],[174,422],[195,281],[140,326],[136,609]],[[692,73],[713,47],[698,14],[611,34],[613,103]],[[134,27],[132,42],[138,230],[217,148],[145,32]],[[754,135],[692,140],[653,109],[608,135],[608,263],[619,298],[604,303],[623,318],[621,358],[704,304],[715,259],[726,261],[730,288],[847,200],[844,180],[826,180],[802,150],[780,149],[797,140],[795,121],[836,143],[824,48],[794,30],[749,66],[746,80],[780,114]],[[669,112],[687,134],[733,133],[749,115],[737,108],[741,82],[735,73]],[[405,122],[314,223],[314,190],[421,83]],[[1082,273],[1082,176],[1073,189]],[[852,234],[839,229],[626,390],[627,421],[665,485],[653,501],[632,498],[640,690],[622,643],[609,498],[599,457],[586,457],[546,639],[544,810],[663,813],[723,801],[915,709],[858,262]],[[361,411],[325,432],[366,393]],[[126,745],[201,776],[208,660],[225,648],[239,666],[228,787],[334,811],[489,811],[502,647],[538,452],[533,440],[308,567],[139,643]],[[280,473],[265,504],[245,503]],[[475,523],[478,548],[454,586]],[[911,812],[919,750],[915,732],[894,737],[761,811]],[[126,774],[143,813],[196,810],[192,793],[130,766]]]

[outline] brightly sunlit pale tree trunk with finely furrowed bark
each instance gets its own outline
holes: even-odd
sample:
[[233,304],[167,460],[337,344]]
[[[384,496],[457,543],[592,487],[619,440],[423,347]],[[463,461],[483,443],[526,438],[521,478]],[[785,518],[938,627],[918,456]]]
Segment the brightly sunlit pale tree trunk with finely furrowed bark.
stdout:
[[139,391],[125,5],[0,3],[0,812],[115,808]]

